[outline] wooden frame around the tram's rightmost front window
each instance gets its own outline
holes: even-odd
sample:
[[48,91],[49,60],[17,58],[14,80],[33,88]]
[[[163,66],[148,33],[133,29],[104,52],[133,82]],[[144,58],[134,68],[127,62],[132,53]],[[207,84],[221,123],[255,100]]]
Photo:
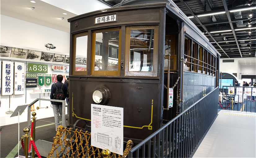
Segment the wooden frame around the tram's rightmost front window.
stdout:
[[[149,30],[154,29],[154,49],[153,49],[153,71],[129,71],[130,64],[130,35],[131,30]],[[141,76],[141,77],[157,77],[158,72],[158,39],[159,39],[159,26],[146,25],[146,26],[127,26],[125,31],[125,76]]]

